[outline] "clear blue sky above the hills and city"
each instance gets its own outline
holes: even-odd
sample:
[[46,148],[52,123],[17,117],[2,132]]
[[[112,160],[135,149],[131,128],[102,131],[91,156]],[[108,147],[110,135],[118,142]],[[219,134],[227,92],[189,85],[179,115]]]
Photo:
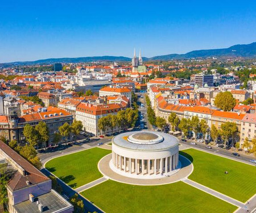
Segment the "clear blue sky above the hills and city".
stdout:
[[0,62],[249,44],[256,41],[255,9],[253,0],[2,1]]

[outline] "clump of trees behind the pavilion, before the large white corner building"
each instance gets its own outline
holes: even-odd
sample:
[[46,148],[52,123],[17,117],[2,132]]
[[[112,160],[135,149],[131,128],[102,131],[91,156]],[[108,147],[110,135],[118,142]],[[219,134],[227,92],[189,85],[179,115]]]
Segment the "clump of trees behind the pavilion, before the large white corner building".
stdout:
[[103,116],[98,120],[98,128],[105,132],[106,129],[110,128],[112,133],[116,127],[127,128],[134,127],[138,120],[138,109],[126,108],[126,110],[120,110],[117,115],[109,114]]

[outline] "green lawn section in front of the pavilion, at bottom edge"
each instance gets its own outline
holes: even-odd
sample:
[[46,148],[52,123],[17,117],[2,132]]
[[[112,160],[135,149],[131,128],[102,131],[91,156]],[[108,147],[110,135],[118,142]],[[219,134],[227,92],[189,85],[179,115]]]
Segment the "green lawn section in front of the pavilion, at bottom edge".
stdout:
[[105,212],[228,213],[236,207],[183,182],[134,186],[105,181],[81,193]]

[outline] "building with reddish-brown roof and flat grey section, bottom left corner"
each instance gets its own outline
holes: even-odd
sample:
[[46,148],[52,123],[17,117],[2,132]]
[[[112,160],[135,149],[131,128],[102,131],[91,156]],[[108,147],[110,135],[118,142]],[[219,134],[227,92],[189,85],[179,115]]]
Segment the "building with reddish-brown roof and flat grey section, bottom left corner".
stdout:
[[0,164],[13,177],[7,183],[10,213],[71,213],[74,208],[52,189],[52,181],[8,145],[0,141]]

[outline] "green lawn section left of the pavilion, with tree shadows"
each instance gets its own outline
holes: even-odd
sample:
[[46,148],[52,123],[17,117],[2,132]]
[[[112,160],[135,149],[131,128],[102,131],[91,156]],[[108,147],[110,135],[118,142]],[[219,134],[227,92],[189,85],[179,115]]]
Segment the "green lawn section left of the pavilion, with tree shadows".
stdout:
[[102,157],[109,153],[111,151],[108,149],[87,149],[54,158],[47,162],[46,169],[75,189],[102,177],[97,164]]

